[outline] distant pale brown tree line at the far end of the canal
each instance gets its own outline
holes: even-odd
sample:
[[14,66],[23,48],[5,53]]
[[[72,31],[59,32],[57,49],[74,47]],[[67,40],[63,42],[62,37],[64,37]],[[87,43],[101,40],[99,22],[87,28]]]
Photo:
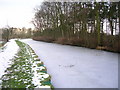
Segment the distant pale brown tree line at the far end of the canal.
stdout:
[[33,30],[31,28],[15,28],[15,27],[5,27],[1,29],[2,41],[8,42],[9,39],[13,38],[31,38],[33,35]]

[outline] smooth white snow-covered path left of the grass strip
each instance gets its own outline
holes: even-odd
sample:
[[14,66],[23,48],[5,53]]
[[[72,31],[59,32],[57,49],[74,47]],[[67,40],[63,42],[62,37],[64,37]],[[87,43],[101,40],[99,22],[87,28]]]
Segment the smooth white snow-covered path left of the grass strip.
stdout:
[[9,67],[11,59],[18,52],[19,47],[17,46],[15,39],[10,40],[5,44],[5,49],[0,52],[0,77],[4,74],[4,71]]

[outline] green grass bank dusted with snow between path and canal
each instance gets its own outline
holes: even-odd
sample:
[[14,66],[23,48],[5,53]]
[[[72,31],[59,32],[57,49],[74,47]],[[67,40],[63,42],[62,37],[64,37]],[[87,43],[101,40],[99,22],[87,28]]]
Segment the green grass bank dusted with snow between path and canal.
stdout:
[[20,50],[1,77],[2,88],[52,88],[51,76],[32,48],[16,40]]

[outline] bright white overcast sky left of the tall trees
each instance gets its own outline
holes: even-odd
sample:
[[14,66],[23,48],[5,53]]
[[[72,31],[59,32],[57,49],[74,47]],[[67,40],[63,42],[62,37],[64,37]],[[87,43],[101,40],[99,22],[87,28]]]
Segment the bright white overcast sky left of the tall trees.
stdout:
[[0,28],[8,23],[10,27],[34,28],[34,8],[43,0],[0,0]]

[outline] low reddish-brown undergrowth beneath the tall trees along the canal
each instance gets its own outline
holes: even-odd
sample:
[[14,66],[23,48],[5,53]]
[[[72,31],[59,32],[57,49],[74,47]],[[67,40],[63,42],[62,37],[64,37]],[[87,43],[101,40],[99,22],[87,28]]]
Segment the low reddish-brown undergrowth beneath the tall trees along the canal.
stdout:
[[111,38],[108,36],[107,38],[109,39],[103,40],[102,46],[97,46],[97,39],[94,37],[89,37],[87,39],[77,38],[77,37],[72,37],[68,39],[64,37],[64,38],[58,38],[55,40],[52,37],[39,36],[39,37],[34,37],[33,40],[50,42],[50,43],[54,42],[54,43],[59,43],[63,45],[82,46],[82,47],[93,48],[97,50],[120,52],[120,40],[112,37],[114,41],[111,42]]

